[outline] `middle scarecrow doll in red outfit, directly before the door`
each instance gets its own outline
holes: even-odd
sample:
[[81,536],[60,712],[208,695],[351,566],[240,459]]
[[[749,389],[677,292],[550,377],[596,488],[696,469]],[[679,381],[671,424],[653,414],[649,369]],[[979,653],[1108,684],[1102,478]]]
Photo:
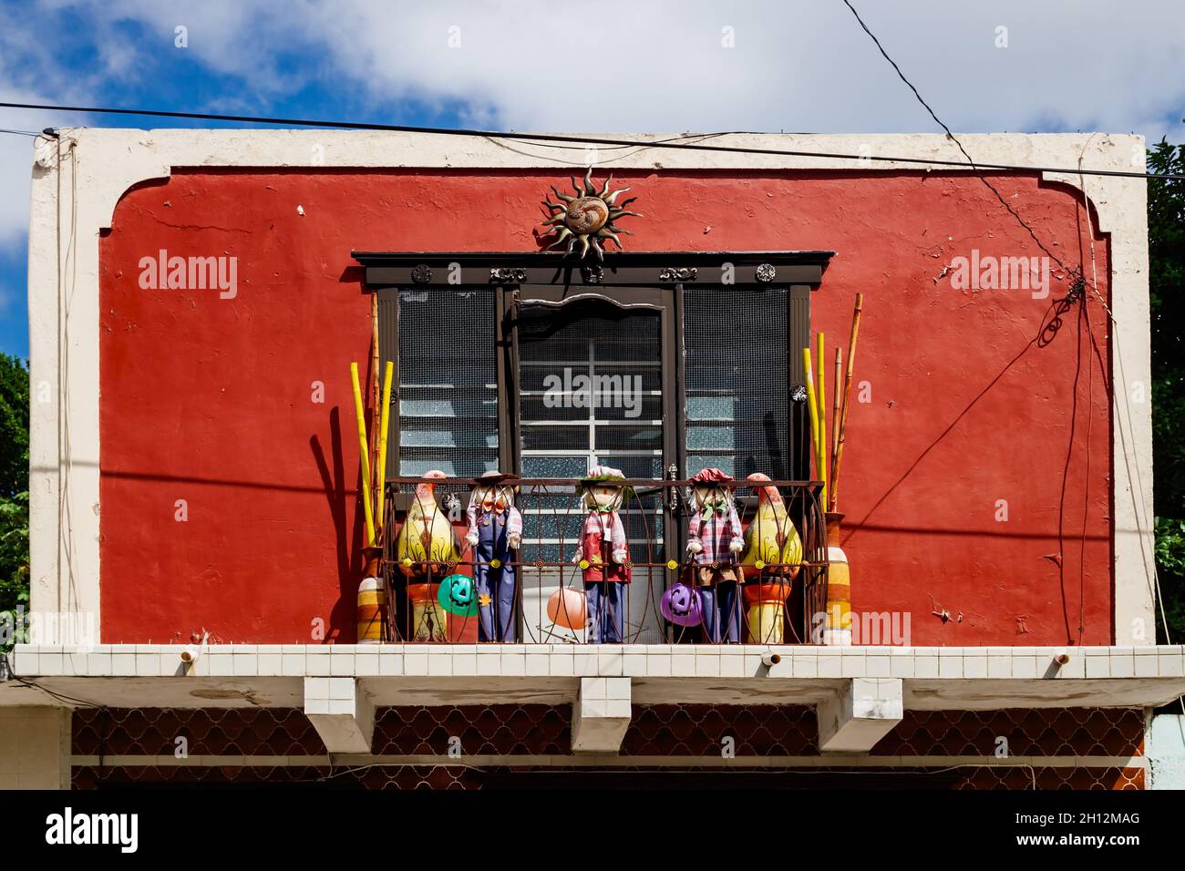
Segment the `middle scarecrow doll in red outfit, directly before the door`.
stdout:
[[589,643],[620,643],[632,568],[626,527],[617,514],[626,497],[626,476],[597,466],[581,481],[581,504],[588,508],[579,550],[572,562],[584,571]]

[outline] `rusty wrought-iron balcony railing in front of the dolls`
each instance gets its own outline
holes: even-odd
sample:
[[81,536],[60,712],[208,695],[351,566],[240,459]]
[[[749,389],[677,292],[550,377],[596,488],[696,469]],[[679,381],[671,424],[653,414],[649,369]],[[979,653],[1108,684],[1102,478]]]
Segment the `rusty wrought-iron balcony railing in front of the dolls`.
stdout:
[[[521,517],[517,549],[507,540],[517,525],[505,537],[497,534],[506,514],[495,517],[495,529],[486,530],[479,546],[466,540],[475,483],[457,478],[387,481],[380,561],[385,606],[383,626],[370,640],[818,642],[828,568],[818,482],[730,486],[744,546],[735,552],[720,542],[715,553],[687,550],[688,520],[696,513],[692,481],[622,481],[615,519],[589,521],[578,482],[513,479],[505,486],[513,488]],[[723,505],[715,507],[718,515],[729,515]],[[476,515],[491,517],[480,508]],[[610,527],[620,523],[622,534],[619,544],[609,544],[615,536],[607,533],[597,547],[585,533],[606,521]],[[481,537],[480,521],[478,532]],[[500,543],[491,544],[492,538]],[[621,585],[608,587],[615,583]]]

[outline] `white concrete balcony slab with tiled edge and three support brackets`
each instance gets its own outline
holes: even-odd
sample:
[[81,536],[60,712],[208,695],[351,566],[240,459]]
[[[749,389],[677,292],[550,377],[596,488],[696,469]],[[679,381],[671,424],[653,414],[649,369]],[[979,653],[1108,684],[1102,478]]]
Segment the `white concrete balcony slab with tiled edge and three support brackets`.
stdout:
[[[395,705],[572,705],[574,751],[613,754],[632,705],[813,705],[820,749],[864,754],[907,710],[1148,707],[1185,648],[715,645],[18,645],[0,706],[297,707],[331,752]],[[1063,660],[1064,661],[1061,661]],[[776,661],[775,661],[776,660]]]

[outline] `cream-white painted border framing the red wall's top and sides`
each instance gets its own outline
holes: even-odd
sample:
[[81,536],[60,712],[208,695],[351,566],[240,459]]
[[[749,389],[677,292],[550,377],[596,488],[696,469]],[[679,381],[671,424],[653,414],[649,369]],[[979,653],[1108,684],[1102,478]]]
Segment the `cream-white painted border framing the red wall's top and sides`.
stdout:
[[[670,136],[627,135],[636,148],[601,149],[603,168],[769,171],[858,168],[869,174],[914,164],[783,156],[647,146]],[[1112,134],[962,136],[991,164],[1139,169],[1144,137]],[[694,140],[692,140],[694,141]],[[959,161],[942,135],[729,134],[713,145],[815,153],[908,155]],[[575,152],[531,142],[511,147],[481,136],[335,130],[121,130],[68,128],[34,146],[28,241],[32,358],[32,607],[100,613],[98,241],[120,198],[136,185],[186,168],[570,169]],[[578,160],[587,160],[581,155]],[[583,164],[581,164],[583,165]],[[943,172],[950,172],[943,168]],[[957,172],[957,171],[955,171]],[[971,171],[968,171],[969,173]],[[1152,415],[1146,182],[1136,178],[1046,173],[1083,193],[1110,233],[1109,331],[1115,360],[1114,552],[1116,643],[1154,645]],[[1087,276],[1091,281],[1093,276]],[[1142,385],[1142,401],[1139,395]],[[41,401],[46,399],[46,401]],[[101,640],[101,639],[100,639]],[[425,654],[427,655],[427,654]]]

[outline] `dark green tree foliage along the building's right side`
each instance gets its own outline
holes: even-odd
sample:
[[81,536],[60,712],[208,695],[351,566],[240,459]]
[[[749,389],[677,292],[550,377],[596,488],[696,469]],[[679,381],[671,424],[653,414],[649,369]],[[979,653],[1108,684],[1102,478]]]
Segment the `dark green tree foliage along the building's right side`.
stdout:
[[[1185,173],[1185,146],[1161,140],[1148,171]],[[1152,303],[1152,462],[1157,565],[1170,636],[1185,640],[1185,182],[1148,180]],[[1160,641],[1165,641],[1159,626]]]

